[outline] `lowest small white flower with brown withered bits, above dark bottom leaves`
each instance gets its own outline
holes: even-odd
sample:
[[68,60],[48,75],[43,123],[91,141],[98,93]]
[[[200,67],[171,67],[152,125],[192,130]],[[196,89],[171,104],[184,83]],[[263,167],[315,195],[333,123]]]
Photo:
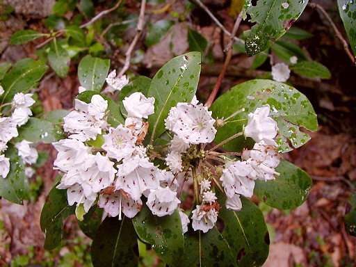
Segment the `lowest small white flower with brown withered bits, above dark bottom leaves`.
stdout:
[[197,205],[192,213],[192,227],[195,231],[201,230],[206,233],[214,227],[216,220],[218,220],[218,212],[215,209],[204,211],[200,205]]

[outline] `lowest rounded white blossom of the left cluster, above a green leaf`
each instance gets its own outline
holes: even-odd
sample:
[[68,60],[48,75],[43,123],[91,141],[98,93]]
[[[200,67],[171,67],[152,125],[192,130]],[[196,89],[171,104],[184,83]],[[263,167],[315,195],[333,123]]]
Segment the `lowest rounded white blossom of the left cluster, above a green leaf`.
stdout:
[[162,217],[175,212],[180,202],[177,192],[170,190],[169,187],[159,187],[150,191],[146,204],[152,214]]

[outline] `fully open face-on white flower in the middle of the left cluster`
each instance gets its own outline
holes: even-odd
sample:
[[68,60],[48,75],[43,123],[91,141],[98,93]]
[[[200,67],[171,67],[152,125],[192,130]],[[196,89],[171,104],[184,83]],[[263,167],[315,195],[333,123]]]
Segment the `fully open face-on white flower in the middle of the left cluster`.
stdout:
[[108,134],[104,135],[105,143],[102,148],[106,150],[107,156],[120,161],[129,158],[135,150],[136,136],[130,129],[119,124],[115,129],[110,127]]

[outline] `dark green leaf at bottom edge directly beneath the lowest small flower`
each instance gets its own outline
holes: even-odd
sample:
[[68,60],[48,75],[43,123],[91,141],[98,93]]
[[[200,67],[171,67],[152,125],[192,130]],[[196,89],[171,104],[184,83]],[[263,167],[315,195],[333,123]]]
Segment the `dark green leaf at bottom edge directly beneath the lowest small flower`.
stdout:
[[189,231],[184,234],[184,261],[177,266],[229,267],[237,266],[229,244],[216,227],[207,233]]

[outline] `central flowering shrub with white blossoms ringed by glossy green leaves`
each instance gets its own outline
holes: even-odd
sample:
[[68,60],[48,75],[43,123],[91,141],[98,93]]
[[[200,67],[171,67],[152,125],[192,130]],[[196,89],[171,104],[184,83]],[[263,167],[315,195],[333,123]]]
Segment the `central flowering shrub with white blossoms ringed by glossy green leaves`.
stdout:
[[46,248],[60,245],[75,214],[94,266],[137,266],[142,243],[168,266],[261,266],[268,231],[251,197],[278,209],[306,200],[312,180],[281,154],[309,140],[300,127],[317,128],[308,99],[252,80],[204,106],[197,52],[153,79],[105,75],[103,91],[101,80],[76,97],[67,138],[53,143],[60,175],[42,210]]

